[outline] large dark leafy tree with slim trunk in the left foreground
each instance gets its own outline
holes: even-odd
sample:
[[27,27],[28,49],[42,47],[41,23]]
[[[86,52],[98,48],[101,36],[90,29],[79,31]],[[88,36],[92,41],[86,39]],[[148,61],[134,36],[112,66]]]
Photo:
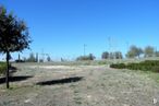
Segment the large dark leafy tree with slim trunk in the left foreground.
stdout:
[[30,38],[24,21],[17,19],[12,13],[7,13],[3,7],[0,9],[0,52],[7,55],[8,68],[5,72],[5,82],[7,89],[9,89],[10,54],[29,48]]

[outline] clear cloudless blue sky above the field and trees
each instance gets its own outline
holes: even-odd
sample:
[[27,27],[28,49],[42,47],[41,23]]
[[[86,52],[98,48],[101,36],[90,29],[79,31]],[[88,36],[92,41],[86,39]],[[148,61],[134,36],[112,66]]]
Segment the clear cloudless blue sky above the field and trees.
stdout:
[[[159,49],[159,0],[0,0],[24,20],[33,39],[29,52],[74,59],[129,46]],[[16,58],[17,54],[13,54]]]

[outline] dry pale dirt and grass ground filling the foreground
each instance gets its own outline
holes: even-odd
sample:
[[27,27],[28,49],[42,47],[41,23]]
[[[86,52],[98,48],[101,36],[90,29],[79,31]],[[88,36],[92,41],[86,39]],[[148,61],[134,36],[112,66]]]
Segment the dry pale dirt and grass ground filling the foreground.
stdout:
[[146,74],[108,66],[29,66],[19,70],[0,106],[159,106],[159,84]]

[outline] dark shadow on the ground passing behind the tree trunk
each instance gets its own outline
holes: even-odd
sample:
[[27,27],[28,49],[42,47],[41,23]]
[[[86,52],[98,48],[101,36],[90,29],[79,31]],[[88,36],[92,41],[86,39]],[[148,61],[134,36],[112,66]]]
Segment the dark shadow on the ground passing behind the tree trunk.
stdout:
[[[33,75],[19,75],[19,76],[10,76],[10,82],[19,82],[24,81],[29,78],[33,78]],[[0,84],[5,83],[5,78],[0,78]]]

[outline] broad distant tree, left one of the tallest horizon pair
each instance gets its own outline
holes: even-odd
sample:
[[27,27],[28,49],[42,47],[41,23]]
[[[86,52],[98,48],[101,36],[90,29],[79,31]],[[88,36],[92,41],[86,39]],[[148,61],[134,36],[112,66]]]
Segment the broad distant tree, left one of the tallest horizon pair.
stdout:
[[139,58],[143,52],[144,51],[143,51],[142,48],[133,45],[133,46],[130,47],[130,50],[127,51],[126,57],[127,58],[135,58],[135,57]]

